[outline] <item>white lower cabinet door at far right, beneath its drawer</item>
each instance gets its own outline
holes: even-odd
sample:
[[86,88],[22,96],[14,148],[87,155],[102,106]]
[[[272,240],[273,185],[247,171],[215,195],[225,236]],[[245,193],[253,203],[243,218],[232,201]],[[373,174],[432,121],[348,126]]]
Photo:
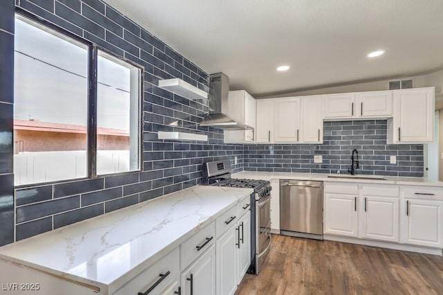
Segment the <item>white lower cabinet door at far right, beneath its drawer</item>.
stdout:
[[442,201],[405,199],[405,243],[443,247]]

